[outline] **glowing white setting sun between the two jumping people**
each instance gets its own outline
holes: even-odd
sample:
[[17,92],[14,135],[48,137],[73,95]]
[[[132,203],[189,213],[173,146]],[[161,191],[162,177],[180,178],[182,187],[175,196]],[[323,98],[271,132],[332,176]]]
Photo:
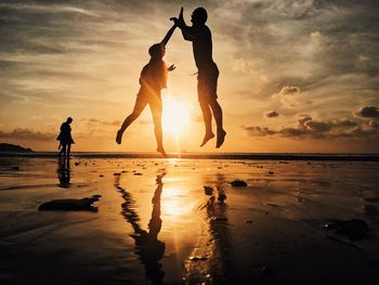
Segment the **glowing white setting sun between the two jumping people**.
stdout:
[[185,103],[168,98],[164,101],[164,130],[174,138],[181,137],[190,125],[190,112]]

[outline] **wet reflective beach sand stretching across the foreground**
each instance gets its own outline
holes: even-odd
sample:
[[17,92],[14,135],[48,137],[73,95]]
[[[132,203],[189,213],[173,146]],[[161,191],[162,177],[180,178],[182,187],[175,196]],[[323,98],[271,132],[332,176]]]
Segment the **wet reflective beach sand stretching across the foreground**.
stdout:
[[[67,169],[0,157],[0,283],[377,284],[378,170],[377,161],[88,157]],[[38,211],[96,194],[97,211]],[[332,219],[365,220],[368,234],[327,232]]]

